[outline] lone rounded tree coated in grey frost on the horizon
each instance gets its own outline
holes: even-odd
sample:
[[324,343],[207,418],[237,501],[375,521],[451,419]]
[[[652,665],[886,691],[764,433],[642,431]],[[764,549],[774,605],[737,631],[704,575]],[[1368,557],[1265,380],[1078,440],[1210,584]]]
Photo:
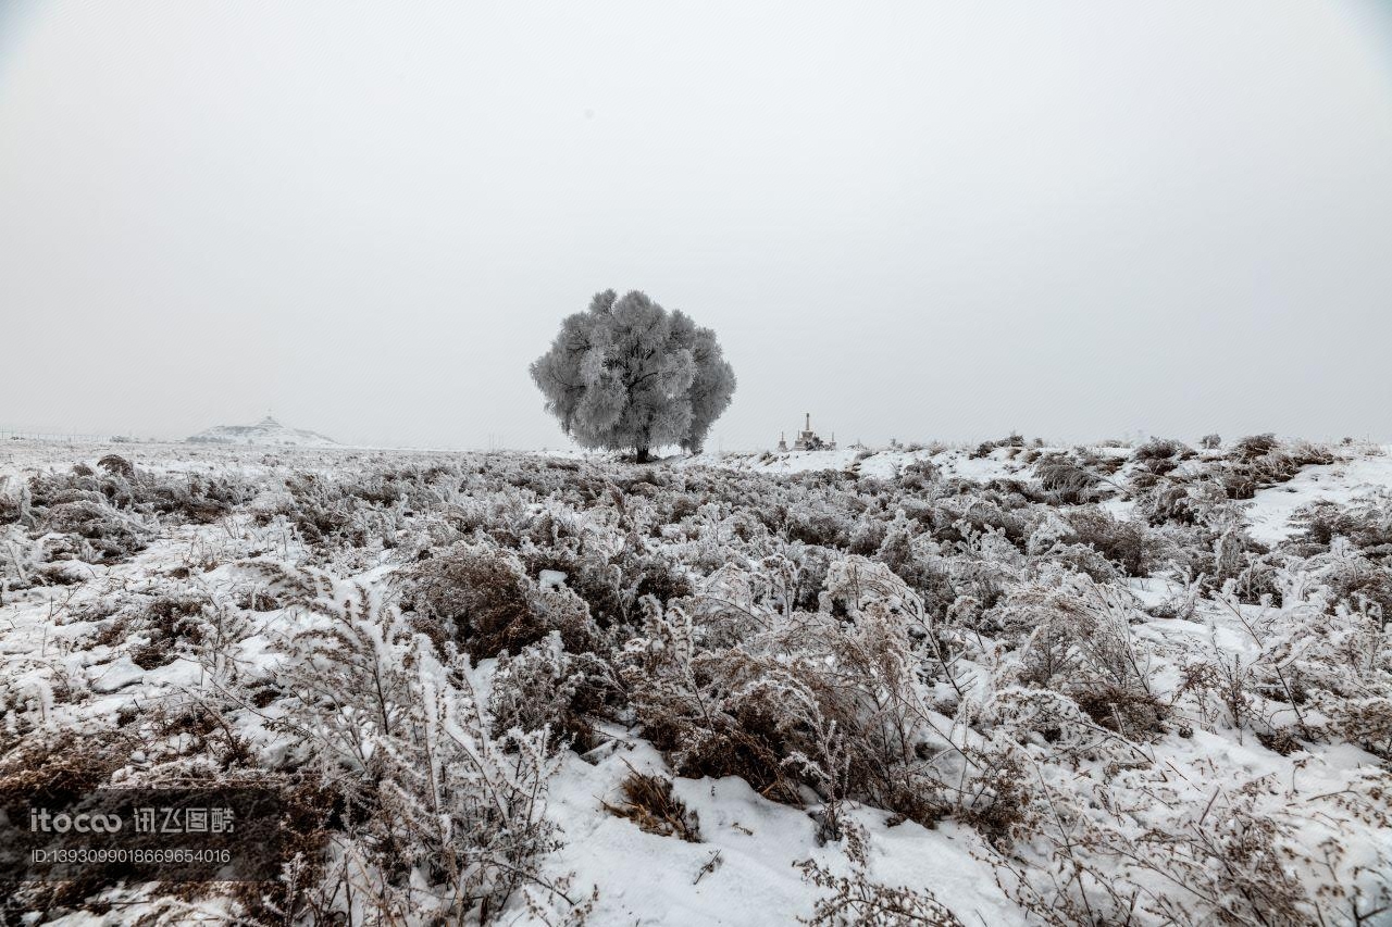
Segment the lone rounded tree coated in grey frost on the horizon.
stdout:
[[667,312],[639,291],[612,290],[561,323],[551,349],[532,363],[546,409],[583,447],[654,447],[697,452],[729,405],[735,372],[715,333]]

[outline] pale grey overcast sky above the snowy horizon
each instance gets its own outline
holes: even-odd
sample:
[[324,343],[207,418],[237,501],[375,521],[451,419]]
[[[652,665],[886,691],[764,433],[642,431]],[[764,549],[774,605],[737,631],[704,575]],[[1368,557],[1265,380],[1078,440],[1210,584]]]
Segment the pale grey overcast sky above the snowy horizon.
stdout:
[[711,447],[1392,438],[1373,0],[0,0],[0,429],[558,447],[600,290]]

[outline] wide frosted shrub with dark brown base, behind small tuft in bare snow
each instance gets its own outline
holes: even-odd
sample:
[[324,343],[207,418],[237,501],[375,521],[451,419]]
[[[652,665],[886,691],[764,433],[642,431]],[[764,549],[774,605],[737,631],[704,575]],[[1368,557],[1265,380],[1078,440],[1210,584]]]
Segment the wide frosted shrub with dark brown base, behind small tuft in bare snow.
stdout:
[[[736,774],[789,802],[799,800],[799,784],[832,806],[873,795],[930,818],[934,786],[919,757],[927,654],[916,654],[910,636],[917,629],[931,647],[922,604],[863,558],[832,564],[824,596],[844,619],[754,604],[752,633],[710,650],[704,626],[683,608],[644,600],[643,632],[622,661],[638,718],[683,775]],[[695,607],[724,614],[702,611],[699,600]]]

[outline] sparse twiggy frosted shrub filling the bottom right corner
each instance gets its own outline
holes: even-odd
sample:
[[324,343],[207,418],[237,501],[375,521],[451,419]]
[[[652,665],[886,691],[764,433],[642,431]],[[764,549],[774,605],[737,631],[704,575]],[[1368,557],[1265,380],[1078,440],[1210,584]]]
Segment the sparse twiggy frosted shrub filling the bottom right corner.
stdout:
[[[1386,850],[1349,852],[1338,824],[1320,820],[1331,796],[1299,800],[1271,778],[1182,795],[1182,782],[1137,768],[1089,798],[1066,778],[1037,777],[1043,813],[1029,843],[999,848],[994,862],[1038,923],[1353,926],[1378,923],[1392,901]],[[1116,814],[1123,779],[1147,800]],[[1340,800],[1386,820],[1385,800],[1366,800],[1364,788]]]

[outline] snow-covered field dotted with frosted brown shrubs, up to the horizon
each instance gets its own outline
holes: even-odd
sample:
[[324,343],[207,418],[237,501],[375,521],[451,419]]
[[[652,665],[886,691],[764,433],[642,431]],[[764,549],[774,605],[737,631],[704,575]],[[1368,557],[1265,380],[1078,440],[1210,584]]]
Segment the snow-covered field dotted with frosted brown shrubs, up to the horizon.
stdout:
[[[440,768],[475,757],[503,779],[521,763],[507,757],[551,750],[554,848],[518,863],[533,874],[498,895],[501,912],[469,902],[454,912],[465,920],[954,923],[892,914],[935,899],[962,924],[1121,923],[1125,910],[1140,924],[1392,923],[1392,908],[1378,910],[1392,902],[1392,640],[1367,597],[1392,589],[1386,551],[1317,550],[1290,523],[1313,501],[1347,507],[1392,489],[1386,451],[1331,448],[1332,464],[1214,501],[1211,487],[1243,466],[1219,451],[1176,452],[1166,466],[1130,448],[998,447],[635,468],[593,455],[10,443],[0,785],[116,743],[96,777],[111,785],[390,779],[415,807],[409,764],[379,764],[372,749],[358,766],[333,760],[296,734],[319,724],[329,735],[315,736],[333,736],[361,718],[296,695],[310,671],[335,672],[305,647],[337,621],[365,635],[355,653],[400,683],[401,704],[438,708],[419,715],[437,732],[425,743],[354,721],[363,743],[433,757],[432,743],[468,740]],[[1065,469],[1045,473],[1051,464]],[[834,480],[806,479],[817,472]],[[1199,501],[1176,508],[1178,497]],[[1263,553],[1282,541],[1306,547]],[[491,633],[479,618],[491,605],[469,599],[493,589],[480,586],[489,569],[516,571],[507,583],[522,611],[508,614],[530,615],[500,632],[529,668],[505,685],[540,686],[519,688],[521,704],[504,697],[497,646],[469,651]],[[515,622],[526,621],[539,624],[523,633]],[[452,664],[430,633],[469,653]],[[855,675],[856,658],[876,670]],[[842,667],[851,675],[835,675]],[[451,682],[458,674],[472,679],[482,728],[465,720],[475,696]],[[590,702],[572,693],[546,710],[575,738],[547,747],[523,721],[571,692],[554,688],[564,678],[582,690],[607,682]],[[171,724],[189,706],[217,722]],[[780,727],[761,720],[770,708],[806,720]],[[702,720],[715,711],[748,729]],[[521,754],[487,727],[504,715],[532,738]],[[912,740],[902,756],[884,743],[891,720]],[[885,753],[848,757],[846,745]],[[615,813],[636,772],[671,781],[699,842]],[[491,824],[440,813],[450,839],[497,852]],[[377,831],[334,825],[315,870],[327,887],[356,859],[362,884],[376,873],[398,880],[390,889],[359,885],[345,902],[320,887],[276,903],[295,923],[329,910],[429,920],[447,882],[422,862],[437,835],[400,827],[419,857],[374,856]],[[846,881],[817,885],[807,866]],[[7,916],[25,923],[260,923],[271,910],[216,885],[96,884],[57,899],[0,888]],[[887,901],[896,888],[909,901]],[[817,908],[838,896],[842,920]]]

